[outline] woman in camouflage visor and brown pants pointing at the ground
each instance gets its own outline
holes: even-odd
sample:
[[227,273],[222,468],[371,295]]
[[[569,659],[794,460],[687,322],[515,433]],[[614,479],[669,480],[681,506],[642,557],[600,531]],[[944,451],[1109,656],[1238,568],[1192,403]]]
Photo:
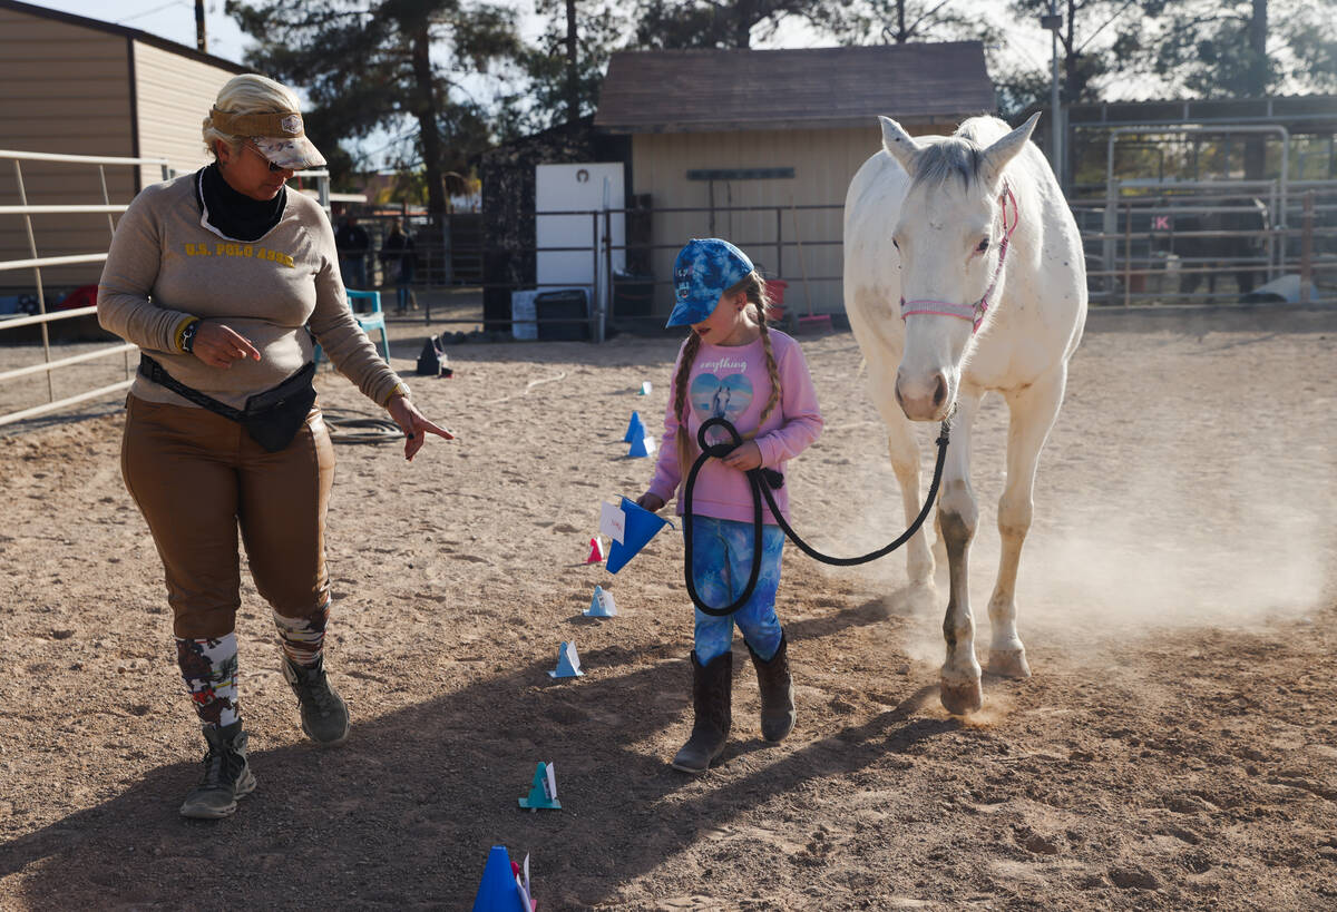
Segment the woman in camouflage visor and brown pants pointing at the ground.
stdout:
[[358,328],[324,211],[285,189],[294,170],[325,164],[293,92],[254,74],[231,79],[203,138],[213,164],[146,187],[126,210],[98,317],[143,352],[122,472],[163,560],[176,655],[209,745],[180,813],[214,818],[255,788],[237,702],[238,528],[302,730],[324,745],[348,737],[322,651],[334,449],[313,408],[312,333],[404,431],[406,459],[427,433],[451,433],[422,417]]

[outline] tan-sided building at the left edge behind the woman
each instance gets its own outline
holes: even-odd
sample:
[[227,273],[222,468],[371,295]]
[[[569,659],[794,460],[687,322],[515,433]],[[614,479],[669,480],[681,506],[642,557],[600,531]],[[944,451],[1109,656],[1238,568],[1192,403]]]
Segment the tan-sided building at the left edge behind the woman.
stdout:
[[[111,9],[111,5],[108,5]],[[0,0],[0,148],[72,155],[166,158],[178,171],[207,159],[201,124],[218,90],[246,67],[134,28]],[[103,198],[96,166],[20,162],[29,205],[91,205]],[[112,203],[162,179],[158,167],[106,168]],[[17,205],[13,162],[0,162],[0,205]],[[39,255],[98,253],[106,215],[35,215]],[[0,261],[25,259],[23,219],[0,215]],[[55,288],[96,282],[99,265],[48,267]],[[28,270],[0,271],[0,286],[32,286]]]

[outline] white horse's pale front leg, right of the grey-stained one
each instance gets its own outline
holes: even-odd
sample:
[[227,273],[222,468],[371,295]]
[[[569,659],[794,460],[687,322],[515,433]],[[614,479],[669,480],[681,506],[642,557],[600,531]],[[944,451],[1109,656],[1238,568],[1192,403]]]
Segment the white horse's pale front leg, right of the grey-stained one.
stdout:
[[1040,461],[1054,419],[1063,404],[1067,368],[1035,381],[1025,389],[1007,396],[1011,420],[1007,433],[1007,483],[999,499],[999,579],[989,598],[989,674],[1005,678],[1029,678],[1025,646],[1016,635],[1016,571],[1021,562],[1021,543],[1031,528],[1035,507],[1035,468]]

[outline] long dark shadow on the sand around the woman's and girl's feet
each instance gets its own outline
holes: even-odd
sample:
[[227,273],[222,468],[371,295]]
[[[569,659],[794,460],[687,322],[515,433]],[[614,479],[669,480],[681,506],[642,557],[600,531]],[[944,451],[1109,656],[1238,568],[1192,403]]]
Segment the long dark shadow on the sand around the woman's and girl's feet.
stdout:
[[[885,616],[881,602],[869,602],[787,631],[801,657],[805,641]],[[737,649],[741,681],[751,669]],[[689,673],[679,649],[614,647],[582,658],[587,677],[578,681],[551,681],[548,663],[529,663],[377,718],[357,705],[356,678],[344,677],[354,705],[348,744],[253,750],[259,788],[233,818],[180,818],[197,766],[167,764],[123,794],[0,848],[0,877],[25,872],[21,901],[35,908],[225,908],[238,881],[250,896],[273,897],[273,908],[468,908],[488,846],[505,844],[519,857],[533,854],[547,908],[588,907],[616,901],[619,885],[771,796],[959,727],[912,718],[936,687],[810,741],[801,715],[781,746],[762,742],[755,719],[735,713],[717,769],[691,778],[651,744],[666,730],[685,731]],[[798,674],[801,685],[801,665]],[[428,682],[402,686],[431,690]],[[562,812],[516,805],[537,760],[556,764]]]

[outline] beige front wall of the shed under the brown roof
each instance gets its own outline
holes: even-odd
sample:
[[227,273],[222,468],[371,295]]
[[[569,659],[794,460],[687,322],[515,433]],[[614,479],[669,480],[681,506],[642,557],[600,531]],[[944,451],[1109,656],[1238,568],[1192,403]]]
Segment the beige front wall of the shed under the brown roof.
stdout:
[[[951,132],[943,128],[944,132]],[[747,130],[738,132],[666,132],[632,136],[632,179],[636,194],[650,194],[655,210],[654,274],[673,275],[677,247],[711,233],[709,207],[767,206],[750,213],[717,211],[714,235],[741,246],[770,278],[789,282],[785,304],[804,312],[812,296],[816,312],[841,309],[841,221],[850,178],[881,148],[874,118],[860,128]],[[792,179],[689,181],[689,170],[793,168]],[[830,206],[822,210],[790,206]],[[775,207],[779,207],[777,214]],[[698,209],[666,213],[664,209]],[[785,246],[777,251],[778,235]],[[797,223],[797,231],[796,231]],[[794,241],[802,242],[802,262]],[[804,273],[808,289],[804,288]],[[671,290],[655,290],[655,313],[667,313]]]

